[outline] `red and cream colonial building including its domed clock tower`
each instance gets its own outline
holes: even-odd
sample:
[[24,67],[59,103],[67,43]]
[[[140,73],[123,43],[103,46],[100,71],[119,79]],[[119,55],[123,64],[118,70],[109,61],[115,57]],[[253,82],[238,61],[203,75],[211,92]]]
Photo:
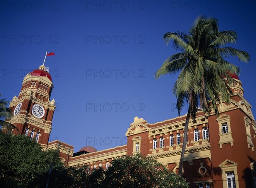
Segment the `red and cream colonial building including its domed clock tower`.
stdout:
[[[230,104],[218,104],[218,118],[198,112],[189,121],[183,176],[191,188],[256,188],[256,122],[242,82],[233,78],[233,96]],[[44,66],[26,75],[20,94],[10,103],[15,115],[10,122],[45,149],[58,149],[65,165],[108,169],[117,157],[141,153],[178,171],[186,115],[153,124],[135,117],[125,134],[127,145],[101,151],[86,146],[73,153],[71,145],[48,143],[55,109],[49,99],[52,88]]]

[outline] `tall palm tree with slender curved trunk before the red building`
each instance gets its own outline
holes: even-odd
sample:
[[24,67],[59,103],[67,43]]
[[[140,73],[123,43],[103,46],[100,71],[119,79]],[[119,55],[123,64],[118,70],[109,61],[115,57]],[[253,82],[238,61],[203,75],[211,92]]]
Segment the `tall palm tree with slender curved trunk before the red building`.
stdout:
[[234,84],[231,75],[238,75],[240,72],[239,67],[225,59],[238,57],[239,61],[247,62],[250,56],[247,52],[226,46],[236,43],[237,33],[232,30],[219,31],[218,20],[213,17],[199,16],[188,34],[180,31],[169,32],[163,38],[166,44],[172,40],[175,49],[181,52],[166,59],[162,67],[154,73],[155,78],[180,72],[173,87],[179,116],[184,104],[189,104],[180,156],[181,175],[190,116],[195,119],[199,109],[208,115],[214,110],[218,116],[217,102],[229,102],[232,95],[230,86]]

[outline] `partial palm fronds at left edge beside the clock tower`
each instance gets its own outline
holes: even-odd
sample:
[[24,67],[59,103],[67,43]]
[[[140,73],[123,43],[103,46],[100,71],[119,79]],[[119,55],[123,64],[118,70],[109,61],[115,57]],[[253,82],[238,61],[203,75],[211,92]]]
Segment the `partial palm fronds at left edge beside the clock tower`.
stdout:
[[[0,93],[1,97],[1,93]],[[12,110],[7,108],[8,101],[6,98],[0,99],[0,126],[5,129],[7,132],[11,132],[13,129],[17,129],[13,124],[5,121],[6,119],[12,118]],[[19,130],[17,129],[18,133]]]

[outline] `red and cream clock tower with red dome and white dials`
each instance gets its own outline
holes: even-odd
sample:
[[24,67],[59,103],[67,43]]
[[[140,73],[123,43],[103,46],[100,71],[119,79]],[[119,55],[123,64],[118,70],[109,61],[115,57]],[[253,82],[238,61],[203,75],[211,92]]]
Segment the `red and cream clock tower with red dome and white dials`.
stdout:
[[14,115],[9,122],[20,134],[35,139],[44,149],[47,149],[55,110],[55,100],[50,101],[52,89],[52,77],[41,65],[25,76],[18,97],[15,96],[9,105]]

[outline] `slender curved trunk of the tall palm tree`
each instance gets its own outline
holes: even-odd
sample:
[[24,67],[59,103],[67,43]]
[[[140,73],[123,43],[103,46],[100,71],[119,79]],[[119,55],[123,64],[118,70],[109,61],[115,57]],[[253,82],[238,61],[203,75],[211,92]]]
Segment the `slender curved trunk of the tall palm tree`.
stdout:
[[189,104],[189,110],[186,116],[186,122],[185,122],[185,127],[184,127],[184,134],[183,134],[183,145],[182,145],[182,150],[181,150],[181,155],[180,155],[180,165],[179,165],[179,175],[182,175],[182,167],[183,167],[183,161],[184,161],[184,156],[185,156],[185,150],[186,150],[186,140],[188,137],[188,128],[189,128],[189,119],[190,119],[190,114],[191,114],[191,106]]

